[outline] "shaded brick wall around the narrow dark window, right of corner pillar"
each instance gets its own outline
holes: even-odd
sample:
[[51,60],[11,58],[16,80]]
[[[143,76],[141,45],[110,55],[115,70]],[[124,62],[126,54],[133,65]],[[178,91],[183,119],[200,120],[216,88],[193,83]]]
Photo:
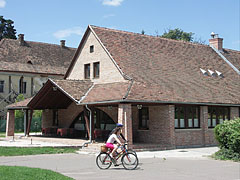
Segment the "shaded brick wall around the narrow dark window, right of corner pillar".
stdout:
[[174,106],[150,106],[149,129],[139,130],[138,110],[133,108],[133,137],[136,143],[154,143],[166,146],[175,146],[174,133]]

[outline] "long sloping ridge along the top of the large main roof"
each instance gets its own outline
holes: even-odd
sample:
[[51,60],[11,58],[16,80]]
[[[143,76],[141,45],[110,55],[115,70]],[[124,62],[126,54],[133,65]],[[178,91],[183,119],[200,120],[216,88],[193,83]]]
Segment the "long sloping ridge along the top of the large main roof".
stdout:
[[191,45],[209,47],[209,45],[207,45],[207,44],[199,44],[199,43],[194,43],[194,42],[189,42],[189,41],[184,41],[184,40],[169,39],[169,38],[164,38],[164,37],[161,37],[161,36],[153,36],[153,35],[148,35],[148,34],[140,34],[140,33],[136,33],[136,32],[124,31],[124,30],[119,30],[119,29],[111,29],[111,28],[100,27],[100,26],[95,26],[95,25],[90,25],[90,26],[93,27],[93,28],[95,27],[95,28],[100,28],[100,29],[115,31],[115,32],[119,32],[119,33],[126,33],[126,34],[133,34],[133,35],[145,36],[145,37],[147,37],[147,38],[155,38],[155,39],[159,38],[159,39],[161,39],[161,40],[173,41],[173,42],[177,42],[177,43],[186,43],[186,44],[191,44]]

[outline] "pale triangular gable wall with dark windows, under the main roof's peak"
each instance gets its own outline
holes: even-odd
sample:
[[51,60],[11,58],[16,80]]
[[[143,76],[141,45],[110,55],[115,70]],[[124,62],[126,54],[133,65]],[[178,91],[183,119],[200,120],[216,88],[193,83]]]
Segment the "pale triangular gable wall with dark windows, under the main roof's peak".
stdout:
[[[91,29],[91,28],[90,28]],[[94,46],[94,52],[90,52],[90,46]],[[93,63],[100,62],[99,78],[93,77]],[[85,42],[79,51],[77,60],[67,79],[84,80],[84,65],[90,64],[90,79],[94,83],[112,83],[126,81],[121,70],[109,55],[96,34],[90,30]]]

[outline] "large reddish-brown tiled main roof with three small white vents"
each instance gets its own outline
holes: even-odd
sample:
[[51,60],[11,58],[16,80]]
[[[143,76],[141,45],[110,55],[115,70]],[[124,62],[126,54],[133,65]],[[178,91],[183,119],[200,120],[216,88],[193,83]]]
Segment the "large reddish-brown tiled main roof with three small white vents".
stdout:
[[[91,27],[123,73],[133,78],[127,99],[240,104],[239,75],[211,47]],[[239,53],[228,52],[239,65]],[[204,76],[200,68],[217,70],[224,78]]]

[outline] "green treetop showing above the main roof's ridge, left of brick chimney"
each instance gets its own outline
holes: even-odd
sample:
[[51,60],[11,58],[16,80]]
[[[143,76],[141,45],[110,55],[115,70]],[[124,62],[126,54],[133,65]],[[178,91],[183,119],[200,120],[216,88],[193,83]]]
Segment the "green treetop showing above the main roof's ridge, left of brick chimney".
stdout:
[[176,29],[168,29],[168,31],[165,31],[161,37],[192,42],[193,35],[194,33],[192,32],[187,33],[179,28],[176,28]]

